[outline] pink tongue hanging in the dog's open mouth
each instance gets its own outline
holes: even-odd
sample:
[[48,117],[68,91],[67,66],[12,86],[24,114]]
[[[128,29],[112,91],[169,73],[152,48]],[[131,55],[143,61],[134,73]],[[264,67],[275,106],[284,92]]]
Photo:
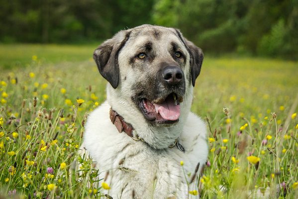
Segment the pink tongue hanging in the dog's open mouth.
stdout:
[[154,106],[166,120],[175,121],[180,116],[180,105],[176,105],[172,98],[167,98],[163,103],[154,103]]

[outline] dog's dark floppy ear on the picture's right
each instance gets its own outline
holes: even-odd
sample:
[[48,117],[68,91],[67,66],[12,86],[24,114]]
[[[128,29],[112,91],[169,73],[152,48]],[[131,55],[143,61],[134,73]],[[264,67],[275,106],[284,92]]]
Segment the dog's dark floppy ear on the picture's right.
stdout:
[[178,29],[175,29],[179,38],[184,43],[186,49],[190,53],[190,65],[191,65],[191,75],[192,75],[192,83],[195,86],[196,79],[199,76],[199,72],[201,69],[201,65],[203,63],[203,51],[197,47],[193,42],[185,39],[181,32]]

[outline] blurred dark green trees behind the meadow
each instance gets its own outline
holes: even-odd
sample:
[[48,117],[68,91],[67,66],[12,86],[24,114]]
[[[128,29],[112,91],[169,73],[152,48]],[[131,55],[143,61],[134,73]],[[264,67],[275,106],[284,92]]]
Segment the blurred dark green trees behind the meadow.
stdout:
[[0,42],[86,43],[144,23],[209,53],[298,59],[298,0],[0,0]]

